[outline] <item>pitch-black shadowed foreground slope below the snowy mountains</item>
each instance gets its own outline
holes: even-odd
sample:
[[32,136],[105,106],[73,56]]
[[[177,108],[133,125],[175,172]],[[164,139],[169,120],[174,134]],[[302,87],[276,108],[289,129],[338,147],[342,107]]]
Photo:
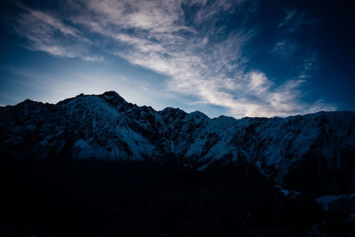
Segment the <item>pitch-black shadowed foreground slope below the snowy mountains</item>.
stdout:
[[2,163],[2,233],[312,235],[353,232],[312,194],[285,196],[253,167],[203,172],[126,162]]

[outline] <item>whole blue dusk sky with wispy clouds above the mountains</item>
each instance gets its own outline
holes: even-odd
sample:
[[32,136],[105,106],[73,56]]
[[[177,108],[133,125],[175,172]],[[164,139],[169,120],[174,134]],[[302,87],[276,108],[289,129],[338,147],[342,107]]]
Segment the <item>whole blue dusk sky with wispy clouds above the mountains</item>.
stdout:
[[0,105],[117,91],[209,117],[355,110],[351,1],[2,1]]

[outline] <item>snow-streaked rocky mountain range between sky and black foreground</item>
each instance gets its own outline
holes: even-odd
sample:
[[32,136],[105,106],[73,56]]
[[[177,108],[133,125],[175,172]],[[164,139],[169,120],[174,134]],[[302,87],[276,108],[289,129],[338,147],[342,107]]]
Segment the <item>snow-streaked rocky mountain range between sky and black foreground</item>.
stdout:
[[196,170],[242,162],[288,186],[304,180],[313,189],[355,190],[355,112],[210,119],[138,107],[107,91],[56,105],[27,99],[0,107],[0,119],[3,157],[177,162]]

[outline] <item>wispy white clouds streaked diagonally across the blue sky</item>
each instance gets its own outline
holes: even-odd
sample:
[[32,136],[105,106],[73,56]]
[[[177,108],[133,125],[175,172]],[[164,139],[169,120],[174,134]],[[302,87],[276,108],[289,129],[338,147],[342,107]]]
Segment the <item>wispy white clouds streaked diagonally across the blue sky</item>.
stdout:
[[[67,5],[75,14],[64,19],[28,8],[20,15],[17,32],[28,38],[31,50],[100,61],[103,56],[95,56],[92,45],[102,51],[108,51],[107,44],[114,45],[109,49],[113,55],[168,75],[167,90],[193,95],[202,104],[226,107],[238,117],[329,108],[302,101],[305,76],[276,84],[263,72],[248,68],[244,48],[257,35],[257,28],[246,25],[257,2],[67,0]],[[231,13],[242,19],[233,30],[223,24]],[[303,22],[291,11],[279,28],[296,30]],[[296,43],[284,39],[272,51],[289,55],[295,50]],[[310,64],[304,61],[304,75]]]

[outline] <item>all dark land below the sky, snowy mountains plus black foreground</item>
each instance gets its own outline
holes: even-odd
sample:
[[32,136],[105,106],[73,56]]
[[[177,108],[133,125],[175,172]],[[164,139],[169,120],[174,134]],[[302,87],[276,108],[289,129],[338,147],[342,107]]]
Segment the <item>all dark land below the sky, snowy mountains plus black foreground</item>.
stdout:
[[355,113],[211,119],[114,91],[0,107],[0,233],[355,232]]

